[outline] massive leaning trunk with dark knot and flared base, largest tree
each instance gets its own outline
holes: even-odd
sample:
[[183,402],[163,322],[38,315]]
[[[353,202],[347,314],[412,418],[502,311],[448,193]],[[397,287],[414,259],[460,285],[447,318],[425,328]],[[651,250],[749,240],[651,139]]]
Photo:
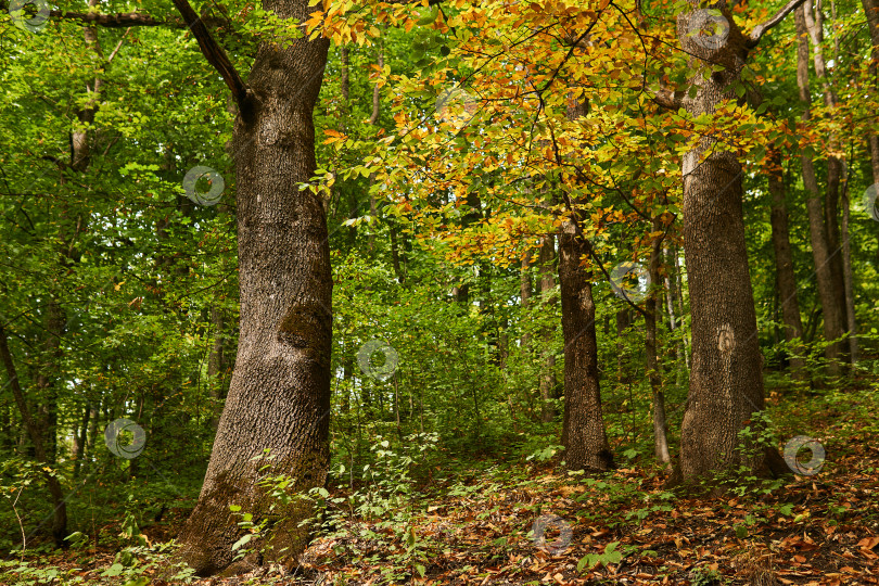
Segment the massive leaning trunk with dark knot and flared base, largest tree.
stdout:
[[[280,17],[304,21],[306,0],[264,0]],[[314,174],[311,112],[328,41],[259,46],[249,85],[255,100],[235,120],[241,331],[234,372],[195,510],[179,537],[182,558],[200,575],[231,565],[244,533],[230,505],[268,519],[265,559],[295,560],[308,540],[304,504],[269,511],[258,484],[272,474],[293,491],[322,486],[329,466],[332,336],[329,243],[321,198],[298,186]],[[254,460],[270,450],[272,460]],[[253,545],[253,543],[251,544]],[[251,546],[249,545],[249,547]]]

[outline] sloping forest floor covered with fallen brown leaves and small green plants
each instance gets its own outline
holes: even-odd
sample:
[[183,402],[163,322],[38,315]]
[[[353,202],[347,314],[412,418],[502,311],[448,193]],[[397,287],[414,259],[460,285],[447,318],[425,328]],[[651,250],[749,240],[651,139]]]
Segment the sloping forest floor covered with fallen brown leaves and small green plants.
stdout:
[[[723,497],[676,495],[638,458],[601,477],[570,475],[550,460],[483,468],[413,491],[391,479],[385,492],[331,491],[324,522],[333,530],[311,544],[294,575],[269,568],[192,583],[879,584],[875,397],[866,388],[832,399],[772,395],[770,407],[784,408],[778,426],[787,437],[807,434],[824,446],[815,475],[774,484],[738,479]],[[28,558],[30,568],[56,570],[53,584],[164,586],[150,578],[163,559],[149,550],[177,533],[186,512],[143,530],[149,547],[135,548],[116,577],[106,574],[119,546],[109,539]],[[118,531],[105,527],[107,535]]]

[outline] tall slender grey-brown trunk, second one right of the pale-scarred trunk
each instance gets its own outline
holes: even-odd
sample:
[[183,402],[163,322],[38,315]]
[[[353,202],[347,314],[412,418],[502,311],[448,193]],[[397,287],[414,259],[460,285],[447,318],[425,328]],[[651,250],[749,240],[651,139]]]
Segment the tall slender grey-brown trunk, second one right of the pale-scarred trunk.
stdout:
[[[808,104],[812,102],[808,90],[808,30],[803,7],[795,11],[797,24],[797,82],[800,87],[800,100],[805,104],[803,122],[811,117]],[[843,316],[838,303],[837,285],[833,279],[830,257],[837,252],[830,249],[825,226],[818,179],[812,155],[804,152],[800,161],[803,168],[803,183],[807,192],[806,209],[808,212],[808,232],[812,241],[812,255],[815,259],[815,278],[818,283],[818,297],[824,314],[824,335],[827,341],[837,340],[844,334]],[[827,346],[825,356],[829,362],[831,375],[839,373],[840,343]]]

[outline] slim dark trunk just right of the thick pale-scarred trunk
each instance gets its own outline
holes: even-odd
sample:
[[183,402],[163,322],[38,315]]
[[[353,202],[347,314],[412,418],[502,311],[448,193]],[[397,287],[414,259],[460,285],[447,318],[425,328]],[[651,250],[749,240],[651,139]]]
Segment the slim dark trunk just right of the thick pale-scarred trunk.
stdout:
[[785,321],[785,339],[794,344],[798,356],[790,359],[793,375],[802,379],[805,375],[805,362],[802,358],[803,321],[800,316],[800,301],[797,296],[797,276],[793,272],[793,254],[790,250],[788,230],[788,207],[785,202],[785,170],[781,167],[781,153],[773,151],[772,168],[768,173],[772,206],[769,224],[773,230],[773,249],[775,249],[775,270],[778,282],[778,294],[781,300],[781,316]]

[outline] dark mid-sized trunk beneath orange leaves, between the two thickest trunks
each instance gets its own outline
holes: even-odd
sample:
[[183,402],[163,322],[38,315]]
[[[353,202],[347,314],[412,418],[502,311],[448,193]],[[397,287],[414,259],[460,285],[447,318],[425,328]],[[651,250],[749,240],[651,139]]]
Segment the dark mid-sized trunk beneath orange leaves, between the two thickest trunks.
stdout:
[[562,445],[569,470],[613,468],[604,432],[598,383],[598,342],[591,276],[581,266],[583,245],[568,221],[559,242],[559,284],[564,335],[564,417]]

